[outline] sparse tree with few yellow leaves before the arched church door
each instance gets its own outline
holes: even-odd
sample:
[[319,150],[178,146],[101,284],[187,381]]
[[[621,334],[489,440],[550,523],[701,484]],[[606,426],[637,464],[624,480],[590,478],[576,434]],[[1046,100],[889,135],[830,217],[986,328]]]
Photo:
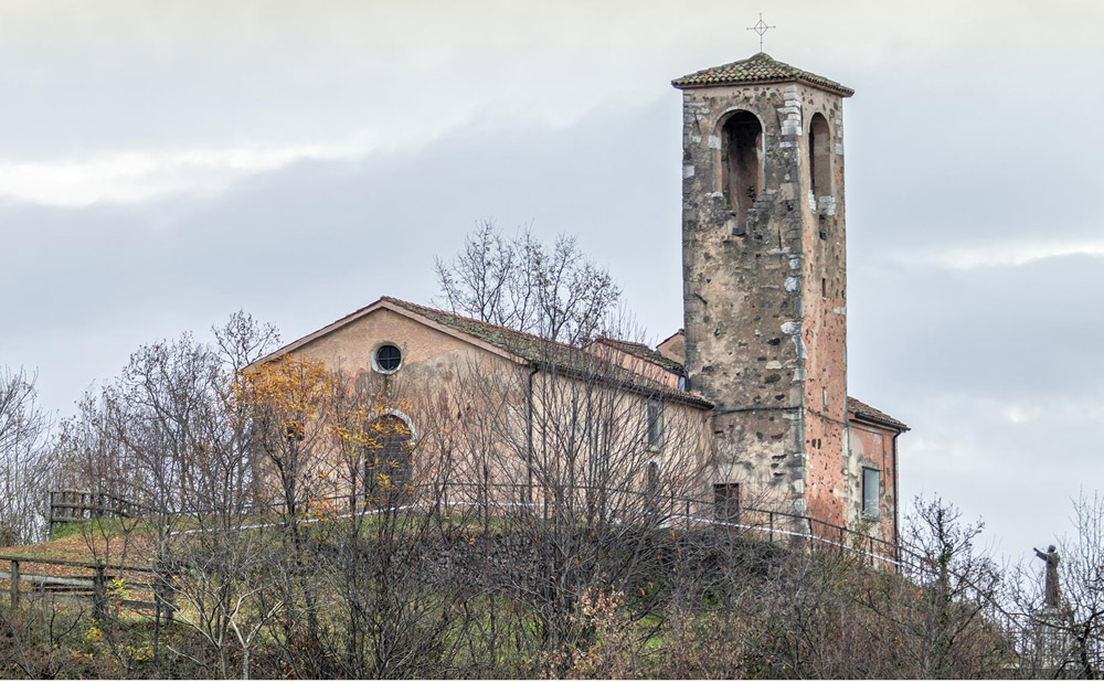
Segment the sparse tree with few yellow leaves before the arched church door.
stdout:
[[[457,434],[447,427],[455,402],[435,392],[400,398],[395,384],[386,393],[374,388],[350,388],[332,412],[335,431],[351,451],[339,471],[361,472],[363,503],[318,531],[319,565],[341,615],[335,636],[343,647],[331,659],[346,677],[448,676],[463,583],[447,567],[469,546],[476,514],[449,510],[445,498],[454,477]],[[399,414],[417,415],[417,433]]]

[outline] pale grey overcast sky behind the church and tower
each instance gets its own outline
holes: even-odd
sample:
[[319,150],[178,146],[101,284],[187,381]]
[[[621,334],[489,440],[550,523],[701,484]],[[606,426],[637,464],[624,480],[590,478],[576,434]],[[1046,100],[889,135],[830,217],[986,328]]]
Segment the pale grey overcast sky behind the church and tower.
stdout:
[[[1104,479],[1104,3],[0,2],[0,365],[62,415],[244,308],[426,302],[478,221],[567,232],[681,327],[680,96],[774,57],[846,100],[851,395],[903,494],[1019,556]],[[628,248],[626,248],[628,245]]]

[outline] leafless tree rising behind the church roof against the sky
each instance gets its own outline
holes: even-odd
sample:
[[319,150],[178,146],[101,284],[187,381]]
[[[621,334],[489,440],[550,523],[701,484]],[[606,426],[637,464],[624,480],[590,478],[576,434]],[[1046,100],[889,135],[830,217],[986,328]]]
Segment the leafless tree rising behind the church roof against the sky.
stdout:
[[560,235],[549,247],[528,228],[507,238],[490,221],[435,269],[453,312],[575,345],[608,332],[602,326],[622,295],[575,237]]

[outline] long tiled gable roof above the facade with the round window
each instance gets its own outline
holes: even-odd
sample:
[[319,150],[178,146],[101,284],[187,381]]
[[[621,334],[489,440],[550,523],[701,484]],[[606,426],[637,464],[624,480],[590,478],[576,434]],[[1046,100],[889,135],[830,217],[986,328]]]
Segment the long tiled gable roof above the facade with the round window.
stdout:
[[400,314],[406,314],[428,327],[446,333],[453,333],[478,346],[498,350],[502,355],[514,361],[541,367],[554,367],[556,372],[564,374],[597,376],[603,382],[608,382],[626,391],[639,394],[659,395],[701,408],[713,407],[713,404],[700,396],[688,392],[680,392],[655,380],[630,372],[619,365],[605,362],[577,346],[543,339],[529,332],[522,332],[521,330],[484,322],[475,318],[449,313],[448,311],[429,308],[428,306],[395,299],[394,297],[381,297],[379,300],[349,313],[344,318],[340,318],[325,328],[311,332],[255,361],[251,367],[291,353],[311,341],[325,337],[381,308]]

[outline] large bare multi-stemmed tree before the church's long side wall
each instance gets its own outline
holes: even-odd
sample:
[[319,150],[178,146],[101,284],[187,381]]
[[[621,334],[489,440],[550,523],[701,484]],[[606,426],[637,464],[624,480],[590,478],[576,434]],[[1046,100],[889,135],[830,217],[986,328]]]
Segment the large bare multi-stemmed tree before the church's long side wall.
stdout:
[[512,638],[534,662],[528,673],[563,675],[595,638],[581,619],[585,595],[630,596],[629,625],[650,610],[640,588],[660,562],[657,537],[701,491],[705,423],[684,396],[609,357],[534,344],[528,364],[474,363],[464,374],[471,409],[459,460],[510,558],[489,568],[509,598],[498,619],[531,634]]

